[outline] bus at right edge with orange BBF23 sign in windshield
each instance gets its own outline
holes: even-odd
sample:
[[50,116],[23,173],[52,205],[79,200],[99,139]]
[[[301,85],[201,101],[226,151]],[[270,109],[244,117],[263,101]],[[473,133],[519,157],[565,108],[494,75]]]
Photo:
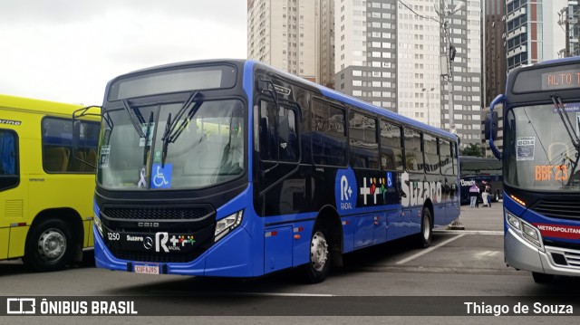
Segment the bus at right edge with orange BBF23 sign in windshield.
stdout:
[[[494,145],[503,106],[503,152]],[[580,58],[509,72],[486,139],[503,161],[507,265],[535,282],[580,275]]]

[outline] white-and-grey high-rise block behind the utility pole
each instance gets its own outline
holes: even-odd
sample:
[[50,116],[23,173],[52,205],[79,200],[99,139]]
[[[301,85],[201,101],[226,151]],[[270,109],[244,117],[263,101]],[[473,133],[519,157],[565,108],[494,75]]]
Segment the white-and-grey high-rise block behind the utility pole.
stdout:
[[479,143],[480,2],[458,4],[457,0],[337,0],[335,88],[411,119],[451,129],[448,83],[441,77],[449,78],[449,73],[440,66],[440,56],[448,55],[444,35],[449,31],[456,51],[451,63],[452,123],[464,146]]

